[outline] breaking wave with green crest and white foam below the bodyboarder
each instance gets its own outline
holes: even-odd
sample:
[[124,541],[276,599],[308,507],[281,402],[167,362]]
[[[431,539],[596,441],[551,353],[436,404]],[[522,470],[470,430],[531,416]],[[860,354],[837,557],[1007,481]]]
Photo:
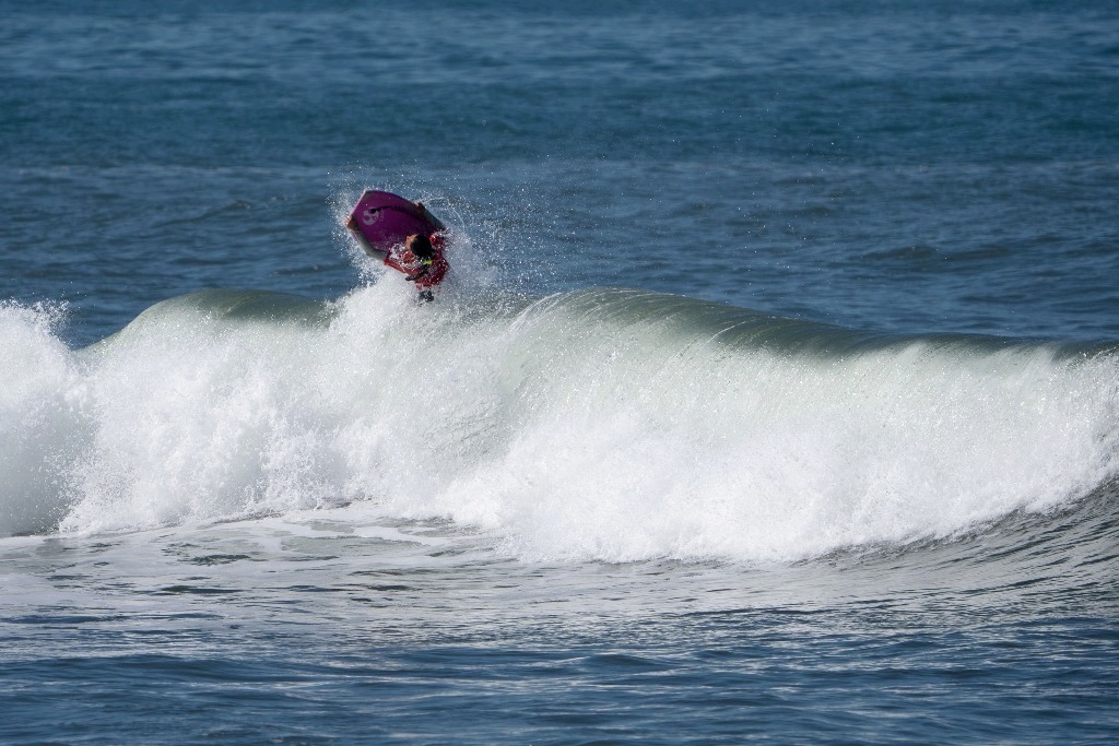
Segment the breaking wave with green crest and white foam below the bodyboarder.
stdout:
[[73,351],[0,310],[3,535],[350,506],[525,559],[783,561],[951,538],[1117,474],[1112,349],[883,337],[592,289],[208,291]]

